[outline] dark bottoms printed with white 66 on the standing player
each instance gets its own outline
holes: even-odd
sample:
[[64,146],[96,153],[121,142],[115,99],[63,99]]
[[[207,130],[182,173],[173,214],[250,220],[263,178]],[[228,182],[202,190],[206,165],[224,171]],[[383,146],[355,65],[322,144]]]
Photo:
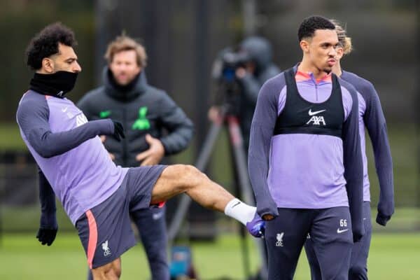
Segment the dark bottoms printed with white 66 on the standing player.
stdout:
[[293,279],[308,234],[323,279],[348,279],[353,246],[349,207],[278,210],[278,217],[265,222],[268,279]]

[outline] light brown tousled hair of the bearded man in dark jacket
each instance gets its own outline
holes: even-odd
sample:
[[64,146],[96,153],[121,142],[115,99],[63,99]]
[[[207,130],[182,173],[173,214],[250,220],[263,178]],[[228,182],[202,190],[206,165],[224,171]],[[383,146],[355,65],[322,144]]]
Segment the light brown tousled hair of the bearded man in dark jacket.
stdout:
[[147,55],[146,49],[141,43],[138,43],[134,38],[131,38],[125,34],[118,36],[114,41],[109,43],[108,48],[105,52],[106,61],[111,64],[113,61],[114,55],[118,52],[123,52],[125,50],[134,50],[137,56],[137,65],[141,67],[146,67],[147,65]]

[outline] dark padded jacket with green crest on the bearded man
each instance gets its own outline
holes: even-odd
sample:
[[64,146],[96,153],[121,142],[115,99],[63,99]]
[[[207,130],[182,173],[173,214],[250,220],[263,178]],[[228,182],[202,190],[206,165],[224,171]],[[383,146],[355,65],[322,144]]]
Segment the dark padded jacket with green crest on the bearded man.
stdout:
[[122,142],[107,137],[106,150],[113,153],[117,165],[137,167],[136,155],[146,151],[146,134],[160,139],[165,155],[179,153],[193,137],[193,123],[179,106],[164,92],[148,85],[142,71],[131,90],[124,92],[111,83],[111,71],[104,70],[104,85],[80,99],[77,106],[88,120],[111,118],[122,123]]

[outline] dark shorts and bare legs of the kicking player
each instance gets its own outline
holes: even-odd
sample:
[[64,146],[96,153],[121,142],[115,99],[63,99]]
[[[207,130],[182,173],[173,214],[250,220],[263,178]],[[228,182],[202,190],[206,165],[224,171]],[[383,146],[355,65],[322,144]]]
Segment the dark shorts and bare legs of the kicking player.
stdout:
[[[263,230],[265,222],[256,215],[255,207],[248,206],[233,197],[195,167],[155,165],[130,168],[116,194],[94,207],[76,223],[94,279],[118,279],[121,273],[119,255],[136,244],[130,228],[130,211],[162,204],[181,193],[186,193],[203,207],[224,211],[226,215],[246,225],[252,235],[262,235],[260,231]],[[92,221],[97,224],[98,237],[92,236],[85,230],[92,228],[90,226]],[[117,234],[110,235],[109,232]],[[91,243],[93,244],[90,247]],[[114,260],[109,258],[113,253],[113,247],[118,250],[116,251],[118,258]]]

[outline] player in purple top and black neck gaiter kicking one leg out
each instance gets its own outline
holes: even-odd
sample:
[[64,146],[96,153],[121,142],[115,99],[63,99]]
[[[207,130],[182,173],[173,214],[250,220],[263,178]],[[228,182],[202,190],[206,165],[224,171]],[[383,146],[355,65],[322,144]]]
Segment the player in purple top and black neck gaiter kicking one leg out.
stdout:
[[73,31],[55,23],[37,34],[27,50],[27,63],[35,73],[16,120],[40,169],[38,240],[50,245],[55,239],[55,196],[78,229],[94,279],[120,277],[120,255],[136,244],[131,211],[181,193],[204,207],[225,211],[260,234],[263,221],[255,207],[235,199],[195,167],[123,168],[112,162],[98,136],[119,141],[125,137],[123,126],[111,119],[88,121],[66,97],[81,71],[73,45]]

